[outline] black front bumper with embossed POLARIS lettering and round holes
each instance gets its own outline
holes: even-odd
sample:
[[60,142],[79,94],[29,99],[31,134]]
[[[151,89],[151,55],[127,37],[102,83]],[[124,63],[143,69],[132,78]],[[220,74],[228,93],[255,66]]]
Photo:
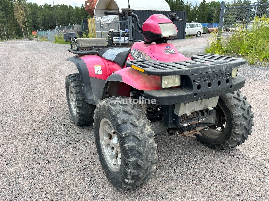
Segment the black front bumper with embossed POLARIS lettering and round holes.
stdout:
[[239,90],[245,84],[246,79],[242,76],[232,78],[232,70],[181,76],[180,88],[144,91],[144,94],[151,100],[155,99],[156,105],[174,105],[221,96]]

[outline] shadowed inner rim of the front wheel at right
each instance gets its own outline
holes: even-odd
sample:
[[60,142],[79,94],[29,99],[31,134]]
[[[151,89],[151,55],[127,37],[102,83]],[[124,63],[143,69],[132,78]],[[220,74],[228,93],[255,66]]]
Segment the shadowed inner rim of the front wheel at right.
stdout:
[[205,130],[200,131],[207,137],[211,137],[211,138],[221,137],[227,128],[226,126],[227,116],[223,108],[220,105],[217,105],[215,109],[217,110],[216,123],[214,125],[209,126],[209,129],[207,131]]

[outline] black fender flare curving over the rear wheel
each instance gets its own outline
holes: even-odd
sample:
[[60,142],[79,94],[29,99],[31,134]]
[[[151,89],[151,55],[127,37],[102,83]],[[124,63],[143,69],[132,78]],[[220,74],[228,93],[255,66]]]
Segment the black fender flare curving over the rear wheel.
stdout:
[[80,80],[82,83],[82,90],[84,94],[85,101],[91,105],[95,105],[93,90],[91,88],[91,81],[89,76],[89,71],[87,65],[83,59],[73,56],[66,59],[66,61],[71,61],[77,66],[79,71]]

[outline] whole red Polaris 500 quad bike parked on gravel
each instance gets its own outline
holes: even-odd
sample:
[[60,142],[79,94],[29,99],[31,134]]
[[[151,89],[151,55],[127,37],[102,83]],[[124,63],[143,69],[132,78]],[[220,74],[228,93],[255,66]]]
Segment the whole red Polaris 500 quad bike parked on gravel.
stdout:
[[141,27],[131,9],[105,11],[132,17],[145,38],[132,47],[79,48],[76,33],[67,60],[79,73],[66,77],[66,97],[76,125],[93,123],[105,174],[121,190],[144,184],[156,170],[154,138],[168,133],[193,137],[217,150],[242,144],[252,132],[253,113],[239,91],[245,59],[217,54],[187,58],[167,40],[178,30],[175,13],[154,14]]

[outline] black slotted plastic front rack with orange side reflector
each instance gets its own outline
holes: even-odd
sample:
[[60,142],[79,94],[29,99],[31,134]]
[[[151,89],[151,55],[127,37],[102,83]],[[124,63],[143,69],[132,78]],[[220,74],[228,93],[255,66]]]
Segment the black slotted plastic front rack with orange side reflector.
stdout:
[[127,61],[126,66],[147,75],[193,75],[231,69],[245,64],[246,60],[218,54],[199,54],[191,60],[162,62],[155,60]]

